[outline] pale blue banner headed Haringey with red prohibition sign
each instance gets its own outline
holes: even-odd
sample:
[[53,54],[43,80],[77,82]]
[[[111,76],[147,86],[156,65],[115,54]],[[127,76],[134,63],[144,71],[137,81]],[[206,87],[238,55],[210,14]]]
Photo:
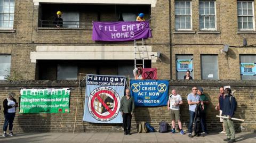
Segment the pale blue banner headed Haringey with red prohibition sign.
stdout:
[[123,123],[119,108],[124,88],[124,76],[87,74],[83,121]]

